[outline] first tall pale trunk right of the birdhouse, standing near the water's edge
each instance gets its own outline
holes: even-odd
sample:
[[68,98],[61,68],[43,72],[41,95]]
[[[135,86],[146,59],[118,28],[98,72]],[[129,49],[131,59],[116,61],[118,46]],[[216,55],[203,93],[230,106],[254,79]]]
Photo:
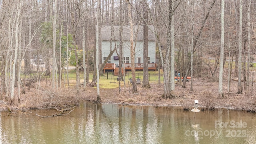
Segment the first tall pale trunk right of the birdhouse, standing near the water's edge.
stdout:
[[224,65],[224,38],[225,38],[225,25],[224,25],[224,8],[225,0],[221,0],[221,38],[220,38],[220,72],[219,72],[219,86],[218,95],[220,98],[224,98],[224,93],[222,89],[223,84],[223,65]]

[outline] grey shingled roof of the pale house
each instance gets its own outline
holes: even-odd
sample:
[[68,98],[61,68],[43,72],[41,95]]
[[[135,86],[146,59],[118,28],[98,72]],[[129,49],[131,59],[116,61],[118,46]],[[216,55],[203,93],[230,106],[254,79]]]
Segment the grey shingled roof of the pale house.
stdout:
[[[139,29],[138,29],[139,28]],[[119,29],[120,26],[114,26],[114,36],[115,40],[119,40]],[[152,33],[154,32],[154,27],[152,25],[148,26],[148,41],[155,41],[155,35]],[[138,32],[138,34],[137,34]],[[137,41],[143,41],[143,26],[133,26],[133,33],[134,33],[134,40],[137,34]],[[111,38],[111,26],[101,26],[101,39],[102,41],[108,41]],[[123,26],[123,40],[130,41],[130,27]],[[113,39],[113,40],[114,40]]]

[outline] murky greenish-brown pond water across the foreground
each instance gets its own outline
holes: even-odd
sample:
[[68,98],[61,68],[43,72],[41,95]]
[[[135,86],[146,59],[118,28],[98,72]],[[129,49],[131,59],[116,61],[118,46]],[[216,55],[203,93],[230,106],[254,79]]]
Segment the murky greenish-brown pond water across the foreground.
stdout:
[[0,114],[1,144],[255,144],[256,114],[215,110],[80,104],[71,114],[54,111]]

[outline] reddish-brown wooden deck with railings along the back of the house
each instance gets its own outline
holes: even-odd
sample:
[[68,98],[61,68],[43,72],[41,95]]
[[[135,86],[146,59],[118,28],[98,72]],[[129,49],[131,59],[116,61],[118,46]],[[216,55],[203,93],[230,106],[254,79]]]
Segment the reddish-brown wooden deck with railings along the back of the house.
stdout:
[[[135,70],[143,70],[143,64],[142,63],[141,64],[134,64],[134,66],[135,66]],[[105,73],[105,70],[113,70],[114,74],[118,74],[119,68],[117,69],[116,65],[114,63],[108,63],[103,68],[103,73]],[[132,70],[131,64],[125,64],[125,70]],[[156,63],[148,64],[148,70],[156,70]],[[122,73],[123,73],[123,69],[122,69]]]

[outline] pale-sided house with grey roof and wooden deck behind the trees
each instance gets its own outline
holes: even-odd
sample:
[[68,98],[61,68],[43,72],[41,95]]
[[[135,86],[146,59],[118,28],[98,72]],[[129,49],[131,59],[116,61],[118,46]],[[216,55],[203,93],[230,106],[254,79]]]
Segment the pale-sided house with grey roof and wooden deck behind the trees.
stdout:
[[[114,49],[115,44],[117,46],[116,52],[108,60],[105,70],[116,70],[119,69],[119,29],[120,26],[114,26],[114,37],[112,38],[112,47]],[[151,32],[153,26],[148,28],[148,69],[156,70],[156,42],[155,35]],[[101,26],[101,40],[102,40],[102,63],[110,54],[110,39],[111,39],[111,26]],[[136,36],[137,35],[137,36]],[[130,56],[130,28],[129,26],[123,26],[123,54],[124,63],[122,68],[125,66],[125,70],[131,70],[131,56]],[[134,46],[135,47],[135,69],[143,70],[143,26],[134,26]]]

